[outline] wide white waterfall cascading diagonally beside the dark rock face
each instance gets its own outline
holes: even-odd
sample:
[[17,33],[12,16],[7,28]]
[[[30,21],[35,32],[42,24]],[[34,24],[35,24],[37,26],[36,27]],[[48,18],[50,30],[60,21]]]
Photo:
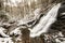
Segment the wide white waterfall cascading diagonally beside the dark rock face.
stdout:
[[35,26],[32,29],[29,29],[31,38],[39,37],[41,33],[48,32],[51,24],[53,24],[56,20],[56,15],[57,15],[57,11],[58,11],[60,6],[61,6],[61,3],[53,6],[48,12],[48,14],[40,19],[40,22],[37,26]]

